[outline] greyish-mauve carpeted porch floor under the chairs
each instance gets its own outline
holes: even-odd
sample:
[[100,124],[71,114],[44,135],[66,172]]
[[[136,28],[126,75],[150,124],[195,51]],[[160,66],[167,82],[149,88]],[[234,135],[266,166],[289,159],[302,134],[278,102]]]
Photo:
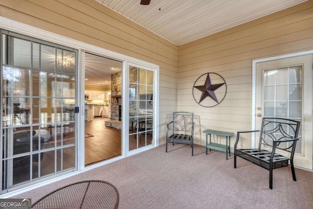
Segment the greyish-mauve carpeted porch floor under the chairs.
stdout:
[[120,209],[312,209],[313,172],[290,167],[275,169],[273,190],[268,188],[268,171],[237,160],[228,161],[224,152],[205,155],[205,147],[165,145],[95,168],[65,180],[37,188],[14,198],[35,202],[58,187],[82,180],[104,180],[120,194]]

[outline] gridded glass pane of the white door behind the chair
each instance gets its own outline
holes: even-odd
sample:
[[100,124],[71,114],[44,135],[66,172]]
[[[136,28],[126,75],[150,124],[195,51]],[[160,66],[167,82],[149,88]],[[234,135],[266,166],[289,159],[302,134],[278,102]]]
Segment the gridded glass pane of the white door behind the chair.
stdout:
[[[263,74],[264,116],[301,120],[302,66],[265,70]],[[301,133],[298,136],[296,153],[301,153]]]

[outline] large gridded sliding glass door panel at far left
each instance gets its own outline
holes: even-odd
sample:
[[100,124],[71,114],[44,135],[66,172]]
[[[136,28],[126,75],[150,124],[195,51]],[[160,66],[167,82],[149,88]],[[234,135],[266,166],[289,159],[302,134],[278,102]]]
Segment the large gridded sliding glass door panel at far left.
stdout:
[[2,193],[77,169],[77,54],[1,31]]

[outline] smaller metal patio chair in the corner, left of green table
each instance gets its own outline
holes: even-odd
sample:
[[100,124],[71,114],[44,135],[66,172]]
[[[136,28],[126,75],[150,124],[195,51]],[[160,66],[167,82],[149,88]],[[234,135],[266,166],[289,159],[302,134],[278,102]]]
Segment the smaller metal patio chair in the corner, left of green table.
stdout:
[[[167,143],[174,144],[190,144],[194,155],[194,114],[188,112],[173,113],[173,121],[167,124],[166,132],[166,152]],[[170,126],[172,124],[172,126]],[[172,128],[172,133],[169,135],[169,130]]]

